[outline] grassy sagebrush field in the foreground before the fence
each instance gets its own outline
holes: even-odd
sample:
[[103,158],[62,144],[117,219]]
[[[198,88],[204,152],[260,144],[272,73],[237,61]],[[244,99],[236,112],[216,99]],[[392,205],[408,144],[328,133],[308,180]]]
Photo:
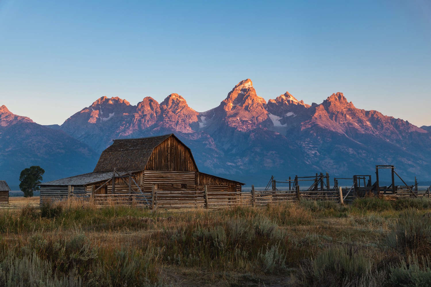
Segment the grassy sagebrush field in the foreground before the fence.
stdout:
[[37,204],[11,198],[0,210],[2,285],[431,284],[428,199],[156,212]]

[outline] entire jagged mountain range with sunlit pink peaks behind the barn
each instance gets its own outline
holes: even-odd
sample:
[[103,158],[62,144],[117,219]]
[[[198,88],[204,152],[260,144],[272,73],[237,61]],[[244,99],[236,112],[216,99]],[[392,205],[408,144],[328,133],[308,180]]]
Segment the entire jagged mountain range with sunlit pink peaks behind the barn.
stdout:
[[395,165],[405,180],[431,179],[431,127],[357,109],[342,93],[320,104],[288,92],[266,102],[250,79],[206,112],[178,94],[162,103],[145,97],[136,106],[101,97],[62,125],[42,126],[2,106],[0,167],[12,188],[30,165],[53,180],[92,171],[112,139],[168,133],[191,148],[201,172],[248,185],[265,185],[271,175],[280,181],[315,172],[373,175],[377,164]]

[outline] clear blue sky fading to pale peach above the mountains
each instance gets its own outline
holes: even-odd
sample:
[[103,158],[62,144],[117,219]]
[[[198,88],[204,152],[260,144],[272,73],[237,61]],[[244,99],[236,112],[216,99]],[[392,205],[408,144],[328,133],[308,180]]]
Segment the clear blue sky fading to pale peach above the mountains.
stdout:
[[431,125],[431,1],[0,0],[0,106],[61,125],[100,97],[184,97],[250,78],[266,101],[342,92]]

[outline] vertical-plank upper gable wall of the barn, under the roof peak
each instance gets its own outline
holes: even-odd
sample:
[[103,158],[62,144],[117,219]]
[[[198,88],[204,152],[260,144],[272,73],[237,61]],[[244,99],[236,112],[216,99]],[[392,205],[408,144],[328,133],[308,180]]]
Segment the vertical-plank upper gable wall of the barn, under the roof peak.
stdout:
[[145,170],[195,172],[190,150],[175,137],[168,137],[154,148]]

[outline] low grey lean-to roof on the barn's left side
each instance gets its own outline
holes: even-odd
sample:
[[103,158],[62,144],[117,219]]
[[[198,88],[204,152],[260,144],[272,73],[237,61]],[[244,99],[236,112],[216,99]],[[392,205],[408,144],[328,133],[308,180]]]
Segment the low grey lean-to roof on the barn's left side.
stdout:
[[[117,170],[120,175],[127,175],[130,172],[128,170]],[[107,181],[112,178],[112,171],[110,172],[90,172],[84,173],[83,175],[75,175],[70,178],[61,178],[55,181],[48,181],[39,185],[86,185],[99,181]]]

